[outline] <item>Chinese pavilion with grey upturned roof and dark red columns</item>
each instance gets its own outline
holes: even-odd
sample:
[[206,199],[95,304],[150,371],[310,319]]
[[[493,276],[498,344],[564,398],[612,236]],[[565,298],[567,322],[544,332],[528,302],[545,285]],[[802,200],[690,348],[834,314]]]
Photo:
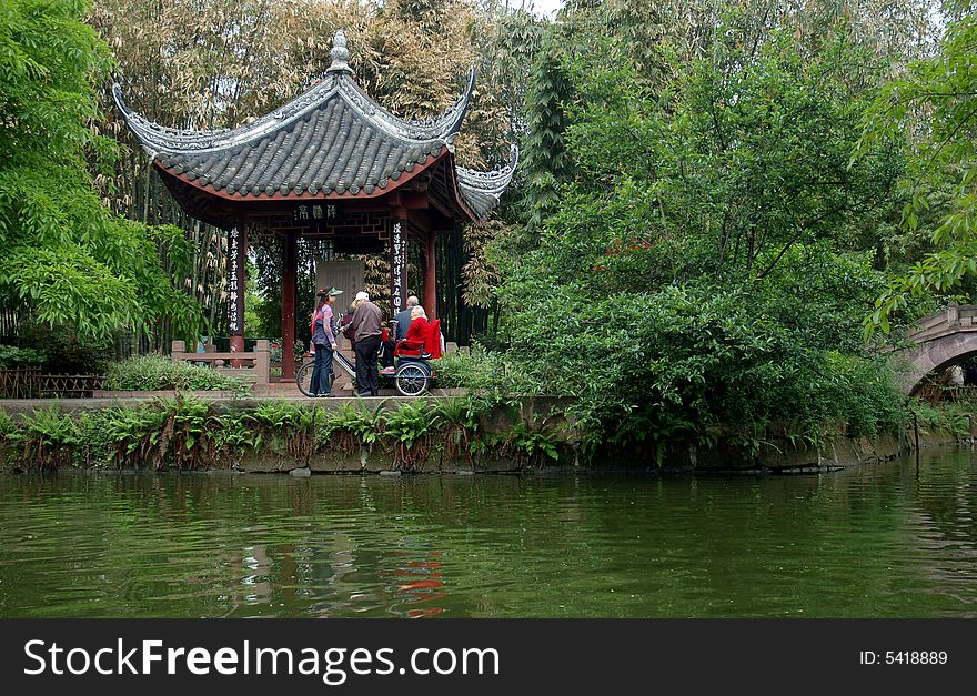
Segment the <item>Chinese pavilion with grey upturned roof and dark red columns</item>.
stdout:
[[407,293],[407,242],[421,251],[423,304],[437,314],[435,241],[484,220],[517,161],[495,171],[459,167],[454,140],[475,87],[440,117],[401,119],[360,89],[338,31],[325,77],[280,109],[236,129],[192,131],[153,123],[115,103],[152,165],[191,216],[228,231],[231,350],[244,350],[248,239],[282,240],[282,380],[294,379],[296,250],[300,236],[329,240],[334,253],[390,254],[391,306]]

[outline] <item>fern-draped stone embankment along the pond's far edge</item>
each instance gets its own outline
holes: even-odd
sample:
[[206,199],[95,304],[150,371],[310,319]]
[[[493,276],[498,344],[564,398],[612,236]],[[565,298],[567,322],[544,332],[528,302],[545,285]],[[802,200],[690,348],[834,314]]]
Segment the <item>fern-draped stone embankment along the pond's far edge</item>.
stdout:
[[[419,402],[410,399],[331,399],[302,402],[288,402],[291,417],[283,417],[283,425],[276,431],[273,424],[261,421],[259,410],[270,404],[269,400],[210,395],[198,400],[205,403],[205,425],[197,440],[208,440],[208,447],[197,446],[193,456],[177,447],[187,446],[187,438],[180,437],[180,414],[174,411],[173,418],[161,417],[160,432],[142,432],[143,444],[129,446],[134,436],[122,445],[108,442],[110,451],[117,454],[111,465],[155,468],[230,468],[248,473],[294,472],[304,473],[476,473],[476,472],[518,472],[552,470],[600,470],[600,471],[669,471],[669,472],[724,472],[724,473],[813,473],[855,466],[863,463],[877,463],[892,460],[911,452],[915,447],[948,445],[960,441],[960,435],[950,433],[919,433],[914,428],[902,436],[879,435],[875,438],[852,438],[835,436],[818,443],[809,443],[784,435],[767,435],[758,440],[752,447],[735,446],[729,438],[718,433],[712,444],[689,443],[675,440],[658,445],[643,445],[626,452],[612,450],[598,451],[593,456],[582,452],[576,434],[567,418],[563,415],[567,405],[565,400],[537,396],[524,399],[516,404],[496,404],[481,411],[475,421],[466,425],[460,422],[452,424],[443,417],[437,426],[423,430],[423,423],[415,425],[423,432],[403,437],[403,425],[400,435],[391,427],[391,416],[401,407],[412,405],[416,408],[424,404],[433,414],[443,408],[445,402],[457,396],[430,397]],[[105,408],[118,413],[122,410],[145,410],[164,402],[151,400],[64,400],[61,402],[7,401],[0,402],[0,410],[7,413],[8,422],[13,428],[13,436],[0,434],[0,454],[8,468],[31,468],[38,462],[30,461],[34,452],[41,452],[41,437],[29,440],[23,433],[29,430],[28,423],[38,410],[57,407],[61,413],[75,422]],[[376,421],[381,435],[372,438],[369,433],[350,427],[336,430],[333,423],[335,441],[322,433],[330,427],[330,413],[336,414],[341,408],[355,406],[363,412],[382,413]],[[314,410],[314,411],[313,411]],[[301,414],[313,413],[304,425]],[[443,411],[442,411],[443,413]],[[85,415],[87,414],[87,415]],[[423,413],[422,413],[423,415]],[[416,416],[416,413],[415,413]],[[175,420],[175,425],[172,420]],[[422,418],[423,420],[423,418]],[[311,422],[310,422],[311,421]],[[261,437],[248,446],[225,446],[228,438],[220,437],[215,428],[230,422],[248,424],[245,431],[259,433]],[[169,423],[169,424],[168,424]],[[386,423],[383,425],[382,423]],[[18,425],[20,424],[20,425]],[[224,424],[224,425],[222,425]],[[17,436],[17,428],[21,435]],[[198,428],[201,430],[201,428]],[[333,432],[330,431],[330,432]],[[85,432],[79,427],[79,432]],[[189,432],[189,431],[188,431]],[[419,431],[420,432],[420,431]],[[977,432],[971,433],[971,437]],[[340,440],[344,438],[344,440]],[[74,442],[67,454],[53,452],[59,465],[71,462],[73,465],[107,465],[104,457],[101,464],[91,464],[98,457],[91,456],[91,445]],[[172,442],[170,442],[172,441]],[[160,442],[169,443],[169,451],[161,448]],[[221,444],[224,443],[224,444]],[[339,444],[336,444],[339,443]],[[79,452],[89,447],[85,457]],[[105,442],[100,447],[107,446]],[[113,450],[114,447],[114,450]],[[661,447],[661,448],[659,448]],[[39,455],[40,456],[40,455]],[[81,463],[80,463],[81,462]],[[43,463],[42,463],[43,465]]]

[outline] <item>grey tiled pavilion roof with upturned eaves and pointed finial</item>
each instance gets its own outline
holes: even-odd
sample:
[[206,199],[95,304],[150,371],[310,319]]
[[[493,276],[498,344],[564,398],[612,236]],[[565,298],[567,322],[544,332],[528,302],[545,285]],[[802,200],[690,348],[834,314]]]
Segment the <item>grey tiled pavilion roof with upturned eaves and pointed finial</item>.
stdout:
[[380,195],[416,168],[447,155],[457,194],[474,219],[486,218],[512,180],[517,152],[493,172],[456,167],[454,139],[471,101],[467,89],[443,114],[429,121],[401,119],[356,84],[343,33],[336,32],[333,62],[304,94],[252,123],[224,131],[183,131],[144,119],[115,102],[142,147],[171,174],[200,189],[235,199]]

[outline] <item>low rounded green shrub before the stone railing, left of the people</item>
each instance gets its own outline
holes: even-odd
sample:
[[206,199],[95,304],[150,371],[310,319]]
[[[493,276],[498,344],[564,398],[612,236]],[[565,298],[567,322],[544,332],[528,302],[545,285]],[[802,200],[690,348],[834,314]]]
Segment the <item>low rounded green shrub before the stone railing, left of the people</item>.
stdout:
[[229,391],[246,392],[245,381],[210,367],[177,362],[161,355],[130,357],[109,367],[105,389],[115,391]]

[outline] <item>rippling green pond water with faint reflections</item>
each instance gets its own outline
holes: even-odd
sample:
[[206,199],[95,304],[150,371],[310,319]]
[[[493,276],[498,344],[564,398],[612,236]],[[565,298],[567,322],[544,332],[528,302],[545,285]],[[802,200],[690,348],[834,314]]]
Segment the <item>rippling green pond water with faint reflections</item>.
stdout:
[[977,456],[800,476],[0,474],[0,616],[975,616]]

